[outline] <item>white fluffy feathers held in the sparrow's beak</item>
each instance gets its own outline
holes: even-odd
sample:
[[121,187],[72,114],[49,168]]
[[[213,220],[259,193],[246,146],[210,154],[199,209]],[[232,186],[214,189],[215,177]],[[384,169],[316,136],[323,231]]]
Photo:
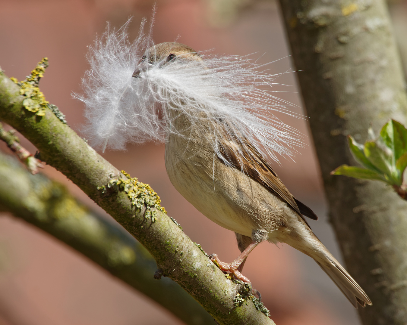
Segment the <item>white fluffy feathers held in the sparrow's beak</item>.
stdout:
[[[293,147],[302,144],[298,132],[272,114],[289,113],[291,106],[271,91],[276,75],[258,72],[262,66],[247,57],[202,54],[205,67],[181,59],[177,64],[155,64],[133,78],[153,41],[143,31],[144,20],[138,38],[130,43],[128,24],[117,31],[108,26],[96,39],[83,78],[85,95],[76,95],[86,105],[85,132],[94,147],[104,151],[106,146],[124,149],[128,142],[165,142],[169,132],[177,133],[169,118],[171,109],[182,109],[193,128],[222,119],[225,134],[246,137],[276,161],[276,154],[291,155]],[[212,142],[218,152],[218,144]]]

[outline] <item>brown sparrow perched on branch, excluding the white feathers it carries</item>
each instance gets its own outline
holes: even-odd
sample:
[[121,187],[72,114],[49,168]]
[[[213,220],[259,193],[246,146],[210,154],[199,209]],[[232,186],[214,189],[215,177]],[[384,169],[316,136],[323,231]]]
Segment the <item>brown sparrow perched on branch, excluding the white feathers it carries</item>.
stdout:
[[[203,73],[207,69],[205,60],[189,46],[160,43],[145,51],[132,77],[138,79],[152,67],[173,65],[174,69],[187,69],[188,63],[201,65]],[[188,98],[166,103],[171,109],[163,109],[175,130],[165,135],[168,177],[197,210],[236,234],[241,251],[232,263],[221,262],[217,254],[212,254],[211,260],[223,271],[250,283],[241,273],[248,254],[263,241],[286,243],[313,258],[355,308],[358,304],[372,305],[305,219],[318,217],[293,197],[264,153],[239,131],[234,132],[234,125],[227,119],[208,116],[202,110],[196,116],[207,122],[191,123],[187,111],[182,109],[186,105]]]

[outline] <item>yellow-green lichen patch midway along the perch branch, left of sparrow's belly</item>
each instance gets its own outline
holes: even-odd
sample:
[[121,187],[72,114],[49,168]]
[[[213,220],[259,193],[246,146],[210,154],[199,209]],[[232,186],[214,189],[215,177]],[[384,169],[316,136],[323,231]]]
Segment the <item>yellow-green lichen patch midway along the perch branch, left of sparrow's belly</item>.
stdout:
[[[131,204],[136,208],[146,208],[145,217],[151,218],[154,222],[157,219],[157,210],[167,213],[160,203],[160,197],[153,191],[149,184],[139,182],[136,177],[131,177],[124,170],[121,171],[127,179],[112,179],[107,184],[107,188],[115,191],[125,191],[131,200]],[[102,193],[106,192],[105,186],[99,186],[98,189],[103,189]]]

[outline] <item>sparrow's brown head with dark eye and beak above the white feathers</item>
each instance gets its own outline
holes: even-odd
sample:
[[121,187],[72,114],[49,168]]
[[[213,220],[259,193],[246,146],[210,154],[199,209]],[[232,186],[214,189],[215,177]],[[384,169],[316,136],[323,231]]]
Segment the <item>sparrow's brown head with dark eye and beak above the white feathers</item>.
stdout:
[[184,63],[188,61],[203,62],[201,56],[185,44],[174,42],[160,43],[147,49],[141,62],[134,70],[133,77],[138,78],[141,72],[155,65],[162,67],[177,61]]

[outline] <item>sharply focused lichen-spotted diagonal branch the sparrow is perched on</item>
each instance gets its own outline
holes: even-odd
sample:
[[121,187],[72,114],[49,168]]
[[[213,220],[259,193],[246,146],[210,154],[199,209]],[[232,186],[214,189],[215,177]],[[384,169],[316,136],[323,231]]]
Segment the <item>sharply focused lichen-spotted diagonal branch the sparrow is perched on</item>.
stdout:
[[[0,119],[18,130],[39,150],[41,160],[65,174],[118,221],[153,256],[158,269],[184,288],[220,324],[274,324],[247,288],[228,279],[166,213],[146,218],[147,207],[132,204],[112,180],[127,180],[52,111],[43,116],[24,107],[19,85],[0,72]],[[148,163],[148,162],[146,162]],[[245,303],[236,303],[238,293]],[[236,299],[235,299],[236,300]],[[263,311],[265,311],[263,309]]]

